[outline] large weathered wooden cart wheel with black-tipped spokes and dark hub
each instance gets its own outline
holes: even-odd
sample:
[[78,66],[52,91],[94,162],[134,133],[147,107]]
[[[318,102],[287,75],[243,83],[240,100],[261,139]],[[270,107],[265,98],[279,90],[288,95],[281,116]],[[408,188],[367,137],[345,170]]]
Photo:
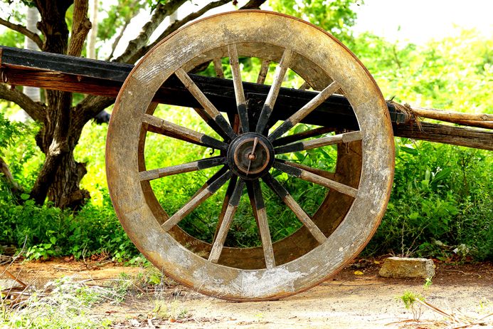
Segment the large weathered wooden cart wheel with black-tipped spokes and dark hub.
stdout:
[[[258,109],[260,115],[252,115],[250,105],[247,110],[238,56],[279,63],[267,99]],[[218,75],[222,75],[218,64],[221,58],[229,58],[235,85],[237,114],[228,115],[231,125],[189,75],[189,71],[208,62],[214,63]],[[259,83],[263,83],[266,68],[263,65],[260,70]],[[287,68],[314,90],[322,91],[269,130],[271,111]],[[153,115],[156,104],[152,99],[171,75],[176,75],[198,100],[202,107],[196,111],[222,138]],[[319,103],[341,92],[354,110],[359,130],[336,131],[336,135],[301,142],[306,136],[280,138]],[[221,150],[221,155],[149,169],[144,158],[149,131]],[[338,156],[333,173],[278,159],[281,154],[334,144]],[[210,296],[236,301],[268,300],[317,285],[363,249],[386,209],[393,155],[386,103],[371,75],[350,51],[329,33],[304,21],[265,11],[235,11],[177,31],[134,68],[120,90],[110,122],[107,180],[125,231],[155,266]],[[150,181],[210,167],[217,167],[216,174],[181,209],[171,216],[167,214]],[[327,197],[312,216],[272,176],[274,169],[328,189]],[[272,189],[303,224],[295,233],[274,243],[260,182]],[[213,243],[196,239],[177,226],[225,184],[228,188]],[[256,221],[262,241],[257,248],[223,245],[243,190],[248,191],[245,194],[255,217],[252,221]]]

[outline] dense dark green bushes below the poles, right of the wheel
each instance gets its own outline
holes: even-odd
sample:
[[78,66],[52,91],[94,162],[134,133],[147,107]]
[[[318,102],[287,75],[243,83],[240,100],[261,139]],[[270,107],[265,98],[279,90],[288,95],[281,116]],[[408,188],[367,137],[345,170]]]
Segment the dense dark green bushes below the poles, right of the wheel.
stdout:
[[396,146],[391,200],[366,252],[447,259],[464,244],[464,256],[493,258],[488,151],[406,139]]

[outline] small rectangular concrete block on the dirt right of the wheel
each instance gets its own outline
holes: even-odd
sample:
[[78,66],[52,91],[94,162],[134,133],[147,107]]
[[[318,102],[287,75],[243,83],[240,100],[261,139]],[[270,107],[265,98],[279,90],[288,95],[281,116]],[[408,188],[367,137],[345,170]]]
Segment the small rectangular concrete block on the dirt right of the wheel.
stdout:
[[435,266],[426,258],[389,257],[378,274],[385,278],[430,278],[435,276]]

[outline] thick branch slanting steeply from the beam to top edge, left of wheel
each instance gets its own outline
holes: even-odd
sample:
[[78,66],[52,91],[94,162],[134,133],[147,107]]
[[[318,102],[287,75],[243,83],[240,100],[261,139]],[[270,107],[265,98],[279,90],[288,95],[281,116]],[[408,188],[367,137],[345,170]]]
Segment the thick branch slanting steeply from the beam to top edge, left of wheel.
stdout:
[[152,33],[156,31],[156,28],[161,24],[161,22],[169,15],[173,14],[179,7],[184,4],[187,0],[169,0],[166,4],[159,3],[152,14],[151,20],[145,23],[144,27],[142,27],[142,31],[140,32],[137,38],[130,41],[127,49],[125,49],[124,53],[116,58],[115,61],[127,63],[129,58],[132,58],[134,53],[139,51],[139,48],[145,46],[149,38],[152,36]]

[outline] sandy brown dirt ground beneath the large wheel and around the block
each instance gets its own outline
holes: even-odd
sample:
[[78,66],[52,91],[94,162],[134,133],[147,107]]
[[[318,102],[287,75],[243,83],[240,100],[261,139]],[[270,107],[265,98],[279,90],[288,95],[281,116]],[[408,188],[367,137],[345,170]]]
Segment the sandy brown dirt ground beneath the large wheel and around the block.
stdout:
[[[461,327],[461,323],[443,322],[444,315],[425,307],[414,321],[413,312],[398,300],[405,291],[413,291],[456,318],[482,318],[493,313],[492,263],[435,263],[436,276],[429,288],[423,286],[423,279],[381,278],[381,263],[356,260],[332,280],[280,301],[233,303],[169,284],[159,291],[135,294],[124,303],[99,305],[93,311],[97,318],[110,318],[112,328],[493,328],[493,315],[488,325]],[[63,260],[9,267],[23,282],[38,287],[62,276],[101,281],[119,278],[120,273],[144,275],[145,271],[149,269]]]

